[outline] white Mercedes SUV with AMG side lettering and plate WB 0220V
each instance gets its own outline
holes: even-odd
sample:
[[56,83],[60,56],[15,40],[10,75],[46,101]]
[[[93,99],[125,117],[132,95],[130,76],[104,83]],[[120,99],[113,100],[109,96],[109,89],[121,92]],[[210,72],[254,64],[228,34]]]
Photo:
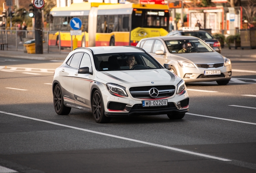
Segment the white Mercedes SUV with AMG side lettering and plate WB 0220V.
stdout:
[[[131,55],[132,68],[127,61]],[[169,71],[169,64],[164,66],[134,46],[76,48],[54,72],[55,111],[92,111],[97,123],[132,115],[182,119],[189,103],[185,82]]]

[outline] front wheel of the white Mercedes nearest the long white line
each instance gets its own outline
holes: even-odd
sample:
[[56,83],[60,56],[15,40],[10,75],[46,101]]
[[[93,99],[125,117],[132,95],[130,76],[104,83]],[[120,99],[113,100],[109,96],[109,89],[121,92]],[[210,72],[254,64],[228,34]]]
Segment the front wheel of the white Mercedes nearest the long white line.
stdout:
[[96,123],[108,123],[111,120],[111,117],[105,116],[103,99],[98,90],[93,93],[92,111]]

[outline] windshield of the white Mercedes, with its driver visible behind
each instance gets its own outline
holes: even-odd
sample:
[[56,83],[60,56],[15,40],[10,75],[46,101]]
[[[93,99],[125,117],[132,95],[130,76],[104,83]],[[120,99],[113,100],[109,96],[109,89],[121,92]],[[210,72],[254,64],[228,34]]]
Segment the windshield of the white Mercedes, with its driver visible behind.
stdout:
[[99,71],[162,68],[154,58],[146,53],[138,52],[96,54],[95,64]]

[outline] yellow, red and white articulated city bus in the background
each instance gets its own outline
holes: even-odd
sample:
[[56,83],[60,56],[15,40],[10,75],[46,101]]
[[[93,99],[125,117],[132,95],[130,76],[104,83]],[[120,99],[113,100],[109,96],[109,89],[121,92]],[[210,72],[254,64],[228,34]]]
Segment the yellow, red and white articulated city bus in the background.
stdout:
[[[169,7],[158,4],[76,3],[52,8],[50,30],[70,31],[70,20],[82,21],[80,46],[122,46],[136,44],[142,38],[168,34]],[[50,34],[49,44],[58,45],[58,34]],[[74,36],[73,36],[74,37]],[[69,32],[60,32],[61,47],[71,46]]]

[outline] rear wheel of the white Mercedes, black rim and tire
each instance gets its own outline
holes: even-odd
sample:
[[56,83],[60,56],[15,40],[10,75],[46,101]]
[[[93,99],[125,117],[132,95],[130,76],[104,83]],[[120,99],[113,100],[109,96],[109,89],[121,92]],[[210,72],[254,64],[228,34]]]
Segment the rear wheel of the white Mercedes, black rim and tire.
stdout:
[[71,107],[64,105],[64,99],[62,96],[60,85],[57,84],[54,88],[54,109],[58,115],[68,115],[71,111]]

